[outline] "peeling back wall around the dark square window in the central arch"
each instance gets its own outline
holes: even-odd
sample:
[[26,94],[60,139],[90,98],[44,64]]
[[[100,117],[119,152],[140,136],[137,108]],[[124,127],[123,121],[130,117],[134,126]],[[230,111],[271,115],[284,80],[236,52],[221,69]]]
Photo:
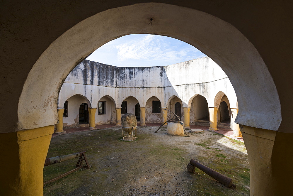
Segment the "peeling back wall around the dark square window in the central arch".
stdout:
[[151,97],[146,102],[146,123],[162,123],[162,112],[153,113],[153,101],[160,101],[156,97]]

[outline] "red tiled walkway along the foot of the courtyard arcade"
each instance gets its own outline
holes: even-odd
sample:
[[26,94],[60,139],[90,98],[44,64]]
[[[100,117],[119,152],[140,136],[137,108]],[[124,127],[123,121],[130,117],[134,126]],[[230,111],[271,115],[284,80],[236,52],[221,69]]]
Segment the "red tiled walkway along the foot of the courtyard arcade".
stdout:
[[[140,123],[137,123],[137,126],[139,126]],[[161,126],[161,123],[146,123],[146,126]],[[96,129],[105,129],[105,128],[110,128],[110,127],[115,127],[115,124],[101,124],[101,125],[96,125]],[[207,130],[209,129],[209,126],[200,126],[200,125],[190,125],[190,129],[202,129],[202,130]],[[75,128],[69,128],[69,129],[64,129],[66,131],[65,134],[69,133],[74,133],[74,132],[81,132],[81,131],[89,131],[91,130],[88,126],[85,127],[75,127]],[[93,129],[92,129],[93,130]],[[243,139],[237,139],[236,137],[233,137],[233,130],[231,129],[224,129],[224,128],[219,128],[219,130],[215,131],[219,134],[223,134],[224,136],[227,136],[229,138],[233,138],[239,141],[243,142]],[[52,138],[58,136],[58,134],[52,134]]]

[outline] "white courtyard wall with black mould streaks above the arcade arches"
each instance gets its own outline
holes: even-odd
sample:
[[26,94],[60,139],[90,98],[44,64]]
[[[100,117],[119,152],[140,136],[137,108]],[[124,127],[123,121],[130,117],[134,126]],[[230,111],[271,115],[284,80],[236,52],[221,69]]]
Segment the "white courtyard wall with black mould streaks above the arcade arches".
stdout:
[[[107,95],[115,105],[112,113],[124,100],[130,113],[134,113],[135,104],[139,103],[140,107],[146,107],[146,122],[150,123],[161,119],[159,114],[149,115],[146,103],[153,96],[159,99],[161,107],[169,108],[169,104],[173,107],[177,102],[170,103],[173,96],[178,97],[181,107],[191,107],[193,97],[201,94],[207,99],[208,107],[214,107],[215,96],[220,91],[229,97],[231,107],[237,108],[236,94],[228,77],[209,57],[162,67],[115,67],[84,60],[67,76],[58,105],[63,107],[69,97],[80,94],[88,99],[89,107],[96,108],[98,101]],[[114,115],[112,119],[114,122]],[[109,123],[109,116],[102,119],[96,116],[96,124],[101,123]]]

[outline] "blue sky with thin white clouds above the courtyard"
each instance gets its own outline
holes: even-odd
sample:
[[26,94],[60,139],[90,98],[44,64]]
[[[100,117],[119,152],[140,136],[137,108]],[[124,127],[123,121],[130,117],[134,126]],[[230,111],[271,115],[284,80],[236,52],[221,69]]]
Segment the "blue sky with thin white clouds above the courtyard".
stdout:
[[146,67],[172,65],[205,56],[192,45],[174,38],[135,34],[104,44],[86,59],[118,67]]

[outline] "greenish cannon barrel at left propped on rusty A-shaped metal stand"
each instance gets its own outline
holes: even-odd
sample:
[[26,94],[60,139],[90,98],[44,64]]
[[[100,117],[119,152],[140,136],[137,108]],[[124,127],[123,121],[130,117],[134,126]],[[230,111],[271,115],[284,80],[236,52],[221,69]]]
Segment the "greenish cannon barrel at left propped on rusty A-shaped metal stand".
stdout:
[[[45,164],[44,167],[48,166],[48,165],[52,165],[55,163],[61,163],[65,160],[69,160],[69,159],[73,159],[73,158],[77,158],[79,157],[77,163],[76,163],[76,168],[73,170],[70,170],[69,172],[66,172],[62,175],[57,176],[56,178],[53,178],[52,180],[48,180],[47,182],[44,182],[44,185],[54,182],[55,180],[58,180],[64,176],[67,176],[68,174],[79,170],[80,168],[84,167],[84,168],[90,168],[91,166],[88,164],[88,160],[86,159],[86,155],[85,155],[86,151],[83,152],[76,152],[76,153],[72,153],[69,155],[61,155],[61,156],[55,156],[55,157],[51,157],[51,158],[46,158],[45,160]],[[82,165],[82,162],[85,161],[86,165]]]

